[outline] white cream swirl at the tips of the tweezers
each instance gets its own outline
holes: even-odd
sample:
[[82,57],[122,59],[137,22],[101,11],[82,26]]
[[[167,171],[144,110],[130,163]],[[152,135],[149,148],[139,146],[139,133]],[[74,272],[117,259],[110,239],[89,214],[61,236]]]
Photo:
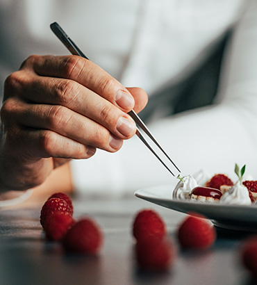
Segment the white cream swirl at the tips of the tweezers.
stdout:
[[182,178],[183,181],[179,181],[173,191],[173,198],[177,199],[190,199],[191,190],[197,187],[197,181],[192,175],[187,175]]

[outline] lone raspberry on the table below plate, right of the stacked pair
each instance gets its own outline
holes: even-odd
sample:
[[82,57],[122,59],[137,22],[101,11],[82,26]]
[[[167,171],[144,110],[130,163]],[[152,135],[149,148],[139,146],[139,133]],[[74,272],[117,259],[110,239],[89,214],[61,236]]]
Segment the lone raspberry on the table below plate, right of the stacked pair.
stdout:
[[213,245],[216,231],[203,215],[189,215],[178,231],[179,243],[185,248],[207,248]]

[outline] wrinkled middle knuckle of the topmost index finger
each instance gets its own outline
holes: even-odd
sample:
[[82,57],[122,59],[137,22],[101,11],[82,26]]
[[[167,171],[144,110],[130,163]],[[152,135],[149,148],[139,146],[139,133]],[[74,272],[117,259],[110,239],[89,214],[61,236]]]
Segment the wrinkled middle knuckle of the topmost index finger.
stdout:
[[79,56],[68,56],[64,60],[63,71],[65,78],[76,79],[85,67],[85,59]]

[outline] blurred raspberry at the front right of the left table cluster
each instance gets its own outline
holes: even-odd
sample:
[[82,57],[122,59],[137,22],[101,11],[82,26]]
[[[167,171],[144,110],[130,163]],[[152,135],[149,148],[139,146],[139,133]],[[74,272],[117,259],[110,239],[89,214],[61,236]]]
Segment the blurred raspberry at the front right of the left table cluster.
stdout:
[[63,238],[63,247],[71,252],[95,254],[103,243],[103,234],[99,225],[90,218],[76,222]]

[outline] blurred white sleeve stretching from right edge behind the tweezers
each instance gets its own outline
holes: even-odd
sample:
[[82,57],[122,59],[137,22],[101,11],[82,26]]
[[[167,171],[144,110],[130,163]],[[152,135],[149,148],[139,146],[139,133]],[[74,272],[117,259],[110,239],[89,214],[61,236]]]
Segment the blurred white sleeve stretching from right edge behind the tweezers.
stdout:
[[[182,175],[204,169],[235,179],[238,163],[247,164],[247,172],[257,178],[256,15],[257,3],[251,1],[226,50],[217,104],[149,125]],[[89,160],[73,161],[72,172],[78,190],[111,196],[176,183],[136,136],[115,154],[100,151]]]

